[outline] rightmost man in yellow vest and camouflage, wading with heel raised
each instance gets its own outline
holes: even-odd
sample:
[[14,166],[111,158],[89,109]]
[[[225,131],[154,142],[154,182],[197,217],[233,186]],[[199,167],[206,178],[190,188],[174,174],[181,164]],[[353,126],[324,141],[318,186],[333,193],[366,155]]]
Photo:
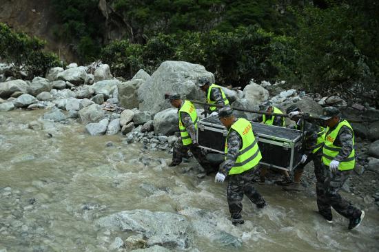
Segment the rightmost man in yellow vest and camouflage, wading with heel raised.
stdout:
[[353,207],[338,193],[356,165],[354,131],[347,120],[340,118],[336,107],[325,107],[320,118],[328,128],[322,147],[322,166],[316,169],[318,212],[331,222],[333,207],[349,219],[348,228],[354,229],[362,222],[365,211]]

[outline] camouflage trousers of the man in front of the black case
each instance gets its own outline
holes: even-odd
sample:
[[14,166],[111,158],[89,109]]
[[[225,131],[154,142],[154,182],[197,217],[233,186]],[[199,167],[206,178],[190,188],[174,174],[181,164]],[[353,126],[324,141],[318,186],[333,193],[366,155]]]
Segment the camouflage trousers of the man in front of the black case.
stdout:
[[265,200],[256,191],[253,186],[253,178],[259,174],[260,167],[249,169],[242,174],[228,175],[229,184],[227,185],[227,203],[229,205],[229,212],[232,217],[232,222],[239,222],[242,220],[242,200],[245,194],[257,207],[263,207]]

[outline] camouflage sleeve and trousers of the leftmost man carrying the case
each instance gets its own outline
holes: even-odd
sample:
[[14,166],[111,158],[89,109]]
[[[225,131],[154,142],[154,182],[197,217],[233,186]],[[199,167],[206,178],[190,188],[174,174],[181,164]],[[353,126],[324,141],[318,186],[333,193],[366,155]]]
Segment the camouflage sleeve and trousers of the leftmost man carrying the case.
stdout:
[[[183,103],[182,103],[183,105]],[[179,108],[180,109],[180,108]],[[192,144],[191,145],[183,145],[182,138],[179,137],[176,141],[172,153],[172,164],[179,165],[182,162],[183,157],[187,156],[187,151],[190,150],[198,163],[205,169],[207,174],[212,173],[214,171],[214,167],[207,160],[201,148],[196,146],[196,129],[194,123],[192,123],[191,116],[189,114],[182,112],[181,119],[183,126],[187,130],[189,136],[191,137]]]

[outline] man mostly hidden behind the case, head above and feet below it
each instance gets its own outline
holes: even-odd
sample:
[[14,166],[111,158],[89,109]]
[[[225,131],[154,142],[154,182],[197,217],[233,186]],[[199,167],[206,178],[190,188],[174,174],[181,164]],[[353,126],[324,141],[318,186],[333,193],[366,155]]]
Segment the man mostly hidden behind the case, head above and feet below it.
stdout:
[[[261,105],[259,105],[259,109],[262,112],[267,113],[275,113],[275,114],[283,114],[283,112],[280,111],[277,107],[274,107],[270,101],[265,101]],[[285,119],[283,116],[266,116],[263,114],[262,116],[258,116],[257,118],[253,119],[254,122],[258,123],[264,123],[265,125],[274,125],[279,127],[285,127]],[[265,176],[267,174],[268,168],[263,167],[260,171],[260,184],[265,183]],[[289,185],[291,184],[291,178],[289,178],[288,171],[283,170],[282,171],[284,180],[279,181],[278,184],[280,185]]]

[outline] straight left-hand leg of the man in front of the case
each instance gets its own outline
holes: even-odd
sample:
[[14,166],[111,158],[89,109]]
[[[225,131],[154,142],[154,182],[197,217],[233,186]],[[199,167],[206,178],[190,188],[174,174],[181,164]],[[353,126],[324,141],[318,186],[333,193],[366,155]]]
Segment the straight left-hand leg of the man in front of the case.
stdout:
[[240,176],[229,175],[229,183],[227,185],[227,204],[233,224],[242,224],[241,216],[243,199],[243,180]]

